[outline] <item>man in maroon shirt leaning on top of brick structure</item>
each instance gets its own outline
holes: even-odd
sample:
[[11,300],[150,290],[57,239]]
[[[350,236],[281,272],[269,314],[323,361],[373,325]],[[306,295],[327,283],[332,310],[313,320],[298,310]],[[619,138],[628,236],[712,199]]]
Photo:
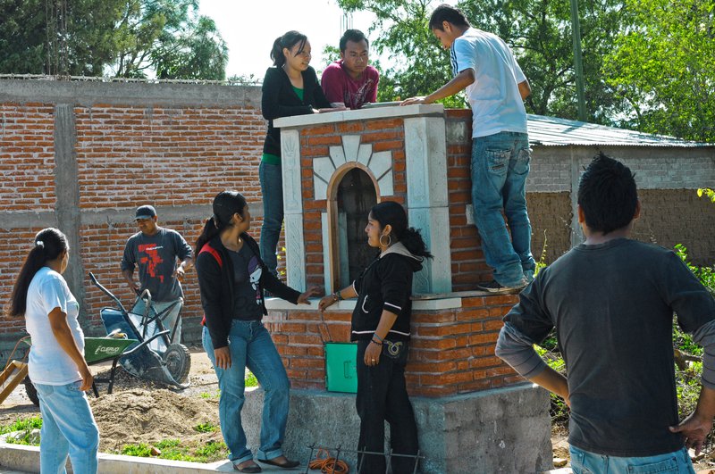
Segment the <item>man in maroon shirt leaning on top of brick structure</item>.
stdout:
[[369,45],[359,29],[348,29],[341,37],[341,60],[333,62],[320,83],[332,105],[342,104],[357,110],[377,100],[380,74],[368,65]]

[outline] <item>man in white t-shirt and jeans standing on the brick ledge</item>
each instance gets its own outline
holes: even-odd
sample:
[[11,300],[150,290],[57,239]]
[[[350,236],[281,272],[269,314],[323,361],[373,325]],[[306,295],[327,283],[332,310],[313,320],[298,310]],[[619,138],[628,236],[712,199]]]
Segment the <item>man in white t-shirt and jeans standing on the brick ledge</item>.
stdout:
[[402,104],[432,104],[467,89],[473,114],[472,204],[484,259],[493,270],[492,282],[479,289],[516,293],[534,279],[536,268],[526,213],[531,151],[523,101],[531,87],[509,46],[492,33],[471,28],[457,8],[438,6],[429,27],[450,48],[455,77],[429,96]]

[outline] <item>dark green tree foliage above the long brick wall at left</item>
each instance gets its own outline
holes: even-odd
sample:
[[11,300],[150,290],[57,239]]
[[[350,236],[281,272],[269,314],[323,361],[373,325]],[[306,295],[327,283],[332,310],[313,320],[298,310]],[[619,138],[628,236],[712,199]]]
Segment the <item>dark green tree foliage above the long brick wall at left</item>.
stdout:
[[228,48],[198,0],[0,0],[0,15],[3,73],[225,78]]

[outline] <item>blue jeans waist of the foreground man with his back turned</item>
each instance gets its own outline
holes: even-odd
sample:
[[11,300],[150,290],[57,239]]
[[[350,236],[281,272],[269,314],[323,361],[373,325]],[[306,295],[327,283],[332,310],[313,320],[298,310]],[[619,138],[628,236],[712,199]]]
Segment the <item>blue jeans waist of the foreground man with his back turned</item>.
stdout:
[[695,474],[686,448],[655,456],[621,458],[589,453],[571,446],[574,474]]

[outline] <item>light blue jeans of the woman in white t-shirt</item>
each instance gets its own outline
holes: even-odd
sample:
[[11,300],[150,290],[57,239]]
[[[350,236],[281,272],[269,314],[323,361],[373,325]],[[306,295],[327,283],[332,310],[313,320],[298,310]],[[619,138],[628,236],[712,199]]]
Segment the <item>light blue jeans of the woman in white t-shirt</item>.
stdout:
[[99,430],[81,382],[67,385],[34,384],[38,389],[40,429],[39,466],[43,474],[64,474],[70,455],[75,474],[97,472]]

